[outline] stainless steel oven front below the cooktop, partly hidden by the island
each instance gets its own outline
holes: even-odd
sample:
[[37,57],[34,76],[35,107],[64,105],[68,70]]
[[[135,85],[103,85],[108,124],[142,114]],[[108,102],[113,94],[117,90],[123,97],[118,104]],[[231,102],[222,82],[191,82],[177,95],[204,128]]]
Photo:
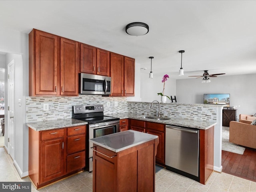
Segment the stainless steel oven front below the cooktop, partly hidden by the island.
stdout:
[[[96,124],[89,124],[89,139],[101,137],[108,134],[113,134],[119,132],[119,120],[111,121],[111,122],[103,122],[103,123],[96,123]],[[93,146],[92,142],[88,144],[89,148],[89,165],[88,171],[92,171],[92,154],[93,151],[91,147]]]

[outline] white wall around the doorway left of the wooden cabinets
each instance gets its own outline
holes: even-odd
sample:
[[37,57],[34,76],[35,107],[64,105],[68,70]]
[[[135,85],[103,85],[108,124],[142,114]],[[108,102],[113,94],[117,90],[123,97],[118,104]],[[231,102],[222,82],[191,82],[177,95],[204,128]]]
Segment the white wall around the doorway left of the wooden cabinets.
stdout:
[[[15,30],[0,27],[0,52],[6,52],[4,68],[7,64],[15,59],[15,149],[14,165],[16,166],[21,177],[28,175],[28,128],[25,125],[25,98],[28,95],[28,34]],[[15,54],[13,54],[15,53]],[[7,72],[6,72],[7,82]],[[7,103],[7,84],[5,86],[5,102]],[[22,106],[17,106],[17,99],[22,100]],[[5,108],[7,116],[7,108]],[[6,123],[7,122],[7,123]],[[6,121],[6,134],[8,135],[8,121]],[[5,146],[7,139],[5,138]]]

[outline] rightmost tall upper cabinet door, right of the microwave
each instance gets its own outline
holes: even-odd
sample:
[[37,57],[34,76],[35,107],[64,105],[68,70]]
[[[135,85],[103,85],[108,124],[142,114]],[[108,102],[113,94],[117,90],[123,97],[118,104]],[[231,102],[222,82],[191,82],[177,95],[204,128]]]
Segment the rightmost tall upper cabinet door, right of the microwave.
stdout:
[[124,96],[134,96],[135,59],[124,57]]

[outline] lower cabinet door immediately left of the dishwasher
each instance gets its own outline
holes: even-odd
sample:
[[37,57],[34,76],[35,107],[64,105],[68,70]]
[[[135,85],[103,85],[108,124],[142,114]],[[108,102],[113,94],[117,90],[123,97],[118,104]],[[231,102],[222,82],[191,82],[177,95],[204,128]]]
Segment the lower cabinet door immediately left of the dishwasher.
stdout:
[[157,146],[156,162],[160,164],[165,164],[164,132],[147,129],[147,133],[158,136],[159,144]]

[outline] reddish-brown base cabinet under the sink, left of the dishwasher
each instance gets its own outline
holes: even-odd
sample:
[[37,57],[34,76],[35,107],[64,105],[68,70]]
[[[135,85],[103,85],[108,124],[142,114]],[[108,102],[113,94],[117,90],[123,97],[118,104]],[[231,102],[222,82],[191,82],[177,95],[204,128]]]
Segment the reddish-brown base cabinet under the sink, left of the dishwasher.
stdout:
[[158,136],[156,163],[165,166],[165,124],[131,119],[130,129]]

